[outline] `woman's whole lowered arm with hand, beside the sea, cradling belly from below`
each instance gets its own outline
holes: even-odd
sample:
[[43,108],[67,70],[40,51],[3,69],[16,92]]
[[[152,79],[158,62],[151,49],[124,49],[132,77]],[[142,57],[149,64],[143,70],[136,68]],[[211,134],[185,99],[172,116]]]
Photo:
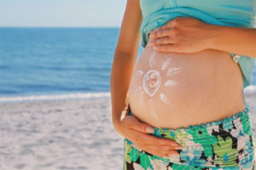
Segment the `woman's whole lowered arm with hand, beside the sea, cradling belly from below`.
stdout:
[[[181,146],[171,139],[162,139],[148,134],[154,133],[151,126],[139,122],[135,116],[127,116],[126,108],[129,105],[129,98],[126,94],[137,62],[142,20],[139,0],[127,0],[110,78],[113,127],[141,150],[155,156],[167,157],[170,154],[177,154],[176,150],[180,150]],[[125,112],[124,118],[121,117],[123,112]]]

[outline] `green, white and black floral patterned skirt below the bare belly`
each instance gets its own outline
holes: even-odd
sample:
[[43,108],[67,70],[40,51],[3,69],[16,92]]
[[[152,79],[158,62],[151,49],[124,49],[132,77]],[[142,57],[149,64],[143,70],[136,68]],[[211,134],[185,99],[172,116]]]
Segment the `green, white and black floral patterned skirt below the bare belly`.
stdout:
[[[154,156],[124,139],[125,170],[253,170],[253,131],[249,107],[218,122],[177,129],[154,127],[151,135],[182,145],[178,156]],[[131,115],[131,111],[129,113]]]

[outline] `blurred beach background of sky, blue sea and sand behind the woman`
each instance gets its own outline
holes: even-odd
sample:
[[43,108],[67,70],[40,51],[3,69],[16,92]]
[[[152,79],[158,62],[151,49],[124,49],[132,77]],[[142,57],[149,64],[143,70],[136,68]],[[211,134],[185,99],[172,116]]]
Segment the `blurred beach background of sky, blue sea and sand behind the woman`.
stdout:
[[122,168],[109,78],[125,3],[0,0],[0,169]]

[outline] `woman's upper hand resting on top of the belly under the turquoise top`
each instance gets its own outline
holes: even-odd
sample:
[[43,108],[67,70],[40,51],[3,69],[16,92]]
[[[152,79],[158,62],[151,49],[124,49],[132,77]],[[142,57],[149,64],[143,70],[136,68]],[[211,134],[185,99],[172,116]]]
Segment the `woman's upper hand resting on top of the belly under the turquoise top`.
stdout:
[[152,31],[148,45],[160,52],[195,53],[211,48],[217,28],[193,17],[177,17]]

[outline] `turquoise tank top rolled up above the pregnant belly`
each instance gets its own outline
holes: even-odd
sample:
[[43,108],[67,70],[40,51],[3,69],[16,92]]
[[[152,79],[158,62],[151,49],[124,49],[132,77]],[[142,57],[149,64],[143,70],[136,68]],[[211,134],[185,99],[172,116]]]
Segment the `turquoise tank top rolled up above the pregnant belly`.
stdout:
[[[218,26],[256,28],[256,0],[140,0],[140,6],[143,13],[143,48],[146,47],[150,31],[178,16],[190,16]],[[255,58],[244,55],[236,58],[236,54],[231,56],[240,65],[243,88],[246,88],[251,84]]]

